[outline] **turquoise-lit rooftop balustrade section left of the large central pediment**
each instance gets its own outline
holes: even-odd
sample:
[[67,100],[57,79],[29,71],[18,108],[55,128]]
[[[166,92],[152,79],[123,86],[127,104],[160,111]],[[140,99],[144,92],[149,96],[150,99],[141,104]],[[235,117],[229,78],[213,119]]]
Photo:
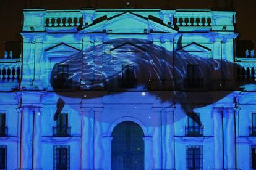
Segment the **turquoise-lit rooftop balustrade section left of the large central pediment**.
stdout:
[[48,10],[44,20],[46,27],[80,26],[82,14],[80,10]]

